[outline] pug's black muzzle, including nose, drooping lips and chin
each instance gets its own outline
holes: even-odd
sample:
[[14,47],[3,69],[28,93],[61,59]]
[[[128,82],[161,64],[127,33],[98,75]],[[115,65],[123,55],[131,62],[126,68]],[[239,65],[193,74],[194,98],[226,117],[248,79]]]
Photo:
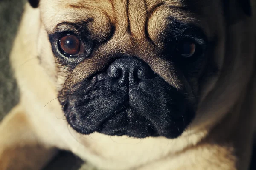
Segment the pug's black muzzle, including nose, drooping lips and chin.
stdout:
[[111,73],[96,74],[59,98],[70,126],[81,134],[180,136],[195,116],[185,95],[140,60],[123,59],[116,65],[108,69]]

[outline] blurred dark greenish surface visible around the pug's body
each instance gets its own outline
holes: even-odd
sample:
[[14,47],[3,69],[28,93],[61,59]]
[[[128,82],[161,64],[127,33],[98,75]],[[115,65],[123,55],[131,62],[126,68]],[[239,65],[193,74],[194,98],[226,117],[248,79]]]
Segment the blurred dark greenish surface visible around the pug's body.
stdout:
[[[9,54],[25,3],[26,0],[0,0],[0,121],[19,100],[19,91],[9,64]],[[251,170],[256,170],[255,161],[256,154],[252,159]],[[44,170],[89,169],[81,159],[62,151]]]

